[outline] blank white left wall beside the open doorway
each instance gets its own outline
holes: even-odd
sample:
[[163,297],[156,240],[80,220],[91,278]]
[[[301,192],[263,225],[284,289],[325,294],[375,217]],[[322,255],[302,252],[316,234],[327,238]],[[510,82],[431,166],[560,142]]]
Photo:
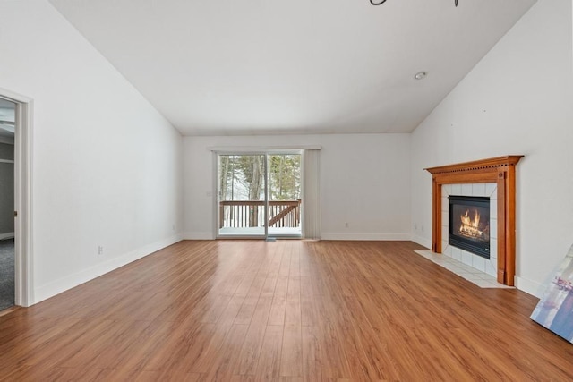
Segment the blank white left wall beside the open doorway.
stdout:
[[35,301],[179,240],[180,134],[44,0],[0,2],[0,52],[34,100]]

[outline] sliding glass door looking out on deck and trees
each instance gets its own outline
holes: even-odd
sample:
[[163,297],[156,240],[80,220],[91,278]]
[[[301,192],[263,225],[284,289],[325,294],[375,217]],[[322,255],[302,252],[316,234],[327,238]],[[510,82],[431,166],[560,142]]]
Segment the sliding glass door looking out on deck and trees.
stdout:
[[302,237],[302,153],[218,153],[219,238]]

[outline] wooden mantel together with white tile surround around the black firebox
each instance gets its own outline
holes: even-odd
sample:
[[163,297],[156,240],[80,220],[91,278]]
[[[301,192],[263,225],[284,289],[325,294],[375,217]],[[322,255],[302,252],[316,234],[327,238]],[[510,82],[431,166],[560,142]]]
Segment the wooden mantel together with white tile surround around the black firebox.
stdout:
[[[488,274],[495,273],[498,283],[510,286],[514,284],[516,268],[516,165],[522,157],[493,157],[425,169],[432,174],[432,250],[436,253],[442,253],[442,249],[449,251],[449,256],[459,257],[468,265],[471,262],[473,267]],[[448,245],[447,231],[443,231],[444,225],[446,229],[448,225],[448,196],[458,195],[457,191],[461,192],[459,195],[467,192],[468,196],[489,196],[491,206],[497,206],[497,211],[492,215],[495,220],[491,223],[492,247],[497,242],[497,248],[492,249],[497,259],[493,259],[493,256],[491,259],[496,261],[495,266],[488,266],[485,259],[470,259],[469,254],[463,253],[466,251],[458,252],[458,249]],[[444,203],[446,207],[443,207]],[[497,225],[495,232],[494,225]]]

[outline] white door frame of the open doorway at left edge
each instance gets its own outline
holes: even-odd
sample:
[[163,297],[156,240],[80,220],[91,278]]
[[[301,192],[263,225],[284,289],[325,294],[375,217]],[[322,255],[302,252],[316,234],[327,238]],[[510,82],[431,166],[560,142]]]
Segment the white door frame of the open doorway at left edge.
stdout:
[[0,88],[0,97],[16,104],[14,132],[15,305],[34,303],[32,241],[33,99]]

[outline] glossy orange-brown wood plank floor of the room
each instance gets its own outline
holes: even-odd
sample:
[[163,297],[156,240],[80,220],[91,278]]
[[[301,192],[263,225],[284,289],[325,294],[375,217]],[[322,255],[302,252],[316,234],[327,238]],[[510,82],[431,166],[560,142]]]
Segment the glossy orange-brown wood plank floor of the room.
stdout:
[[179,242],[0,317],[0,380],[573,380],[537,300],[412,242]]

